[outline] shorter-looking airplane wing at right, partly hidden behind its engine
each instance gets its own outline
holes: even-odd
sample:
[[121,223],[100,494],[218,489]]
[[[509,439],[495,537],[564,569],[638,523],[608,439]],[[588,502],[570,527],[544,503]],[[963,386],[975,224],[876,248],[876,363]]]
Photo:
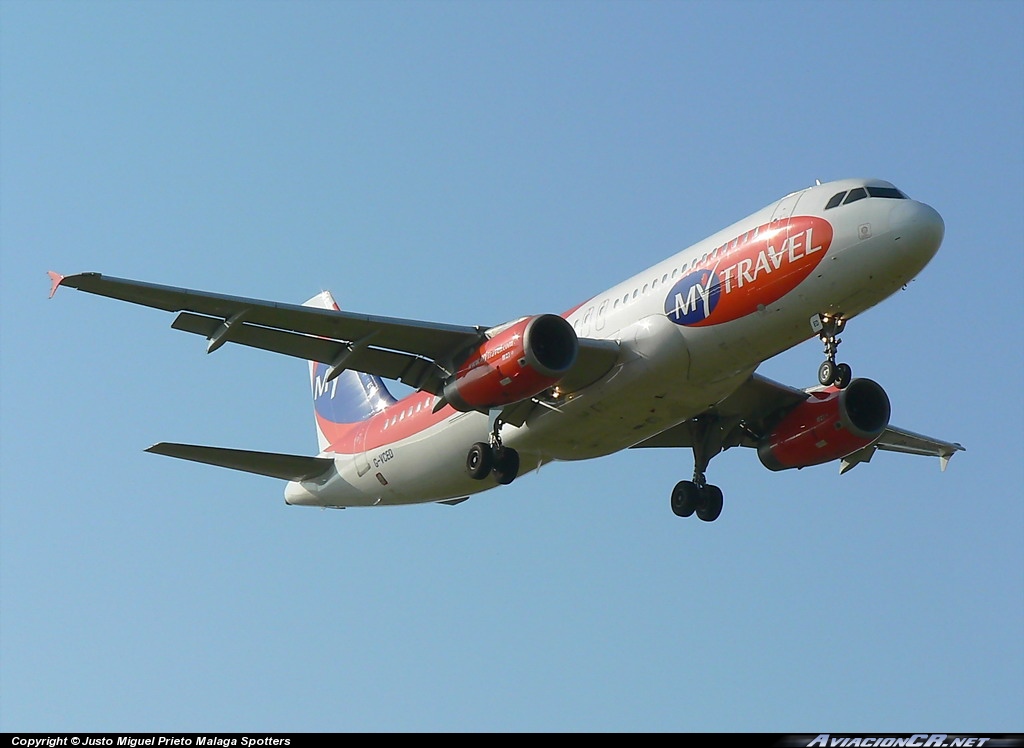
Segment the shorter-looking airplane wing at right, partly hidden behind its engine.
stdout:
[[[772,421],[777,421],[809,397],[808,391],[755,374],[735,392],[707,413],[662,431],[635,445],[634,449],[692,447],[698,440],[698,434],[707,439],[709,428],[717,429],[717,443],[721,445],[721,449],[756,448],[760,435]],[[840,473],[852,469],[861,462],[869,462],[877,450],[938,457],[939,467],[945,470],[949,458],[956,452],[964,451],[964,447],[953,442],[889,425],[872,444],[843,458]]]

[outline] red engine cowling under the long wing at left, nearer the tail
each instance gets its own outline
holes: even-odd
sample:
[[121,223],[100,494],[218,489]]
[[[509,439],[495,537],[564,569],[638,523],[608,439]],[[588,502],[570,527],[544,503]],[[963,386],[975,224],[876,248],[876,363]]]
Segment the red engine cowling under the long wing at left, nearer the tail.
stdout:
[[485,410],[543,392],[565,376],[580,351],[572,326],[557,315],[527,317],[488,331],[445,384],[456,410]]

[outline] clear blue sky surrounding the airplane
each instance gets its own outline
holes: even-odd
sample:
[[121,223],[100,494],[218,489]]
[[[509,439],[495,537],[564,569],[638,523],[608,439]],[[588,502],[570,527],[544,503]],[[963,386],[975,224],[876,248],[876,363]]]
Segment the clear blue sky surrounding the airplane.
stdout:
[[[1022,39],[1019,2],[0,0],[0,730],[1024,732]],[[313,452],[304,364],[46,298],[494,325],[848,176],[946,237],[841,358],[968,451],[731,450],[714,525],[664,450],[287,507],[142,450]]]

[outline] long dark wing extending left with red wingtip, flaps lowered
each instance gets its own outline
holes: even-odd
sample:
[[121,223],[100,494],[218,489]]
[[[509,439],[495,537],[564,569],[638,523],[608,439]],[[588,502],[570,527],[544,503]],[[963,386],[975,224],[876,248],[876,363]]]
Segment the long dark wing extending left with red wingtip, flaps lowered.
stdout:
[[[328,378],[345,369],[395,379],[440,396],[461,355],[486,337],[487,328],[443,325],[391,317],[161,286],[98,273],[50,273],[50,296],[60,286],[177,311],[175,330],[203,335],[212,352],[226,342],[249,345],[332,367]],[[580,339],[580,354],[565,375],[571,388],[602,376],[618,348],[607,340]]]

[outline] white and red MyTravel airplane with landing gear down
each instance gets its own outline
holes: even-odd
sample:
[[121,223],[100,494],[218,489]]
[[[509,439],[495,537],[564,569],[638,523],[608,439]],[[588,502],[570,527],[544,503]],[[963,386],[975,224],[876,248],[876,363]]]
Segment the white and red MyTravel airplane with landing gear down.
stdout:
[[[672,490],[682,517],[714,522],[706,472],[732,447],[769,470],[878,450],[937,456],[957,443],[891,425],[885,389],[837,363],[847,323],[932,259],[939,213],[888,181],[843,179],[791,193],[567,311],[498,326],[340,310],[330,292],[278,303],[50,272],[60,286],[177,313],[171,327],[308,362],[314,456],[159,443],[146,451],[287,481],[290,505],[458,504],[553,461],[625,449],[688,448]],[[818,337],[817,384],[758,373]],[[396,400],[384,380],[414,391]]]

